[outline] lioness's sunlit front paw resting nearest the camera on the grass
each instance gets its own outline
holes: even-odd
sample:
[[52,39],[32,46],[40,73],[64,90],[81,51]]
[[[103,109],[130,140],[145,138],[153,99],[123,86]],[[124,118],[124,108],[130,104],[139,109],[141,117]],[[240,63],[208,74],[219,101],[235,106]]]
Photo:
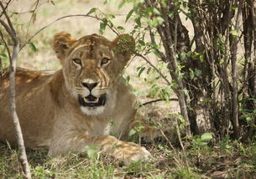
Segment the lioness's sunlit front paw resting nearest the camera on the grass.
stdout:
[[114,156],[118,160],[122,160],[124,165],[128,165],[133,161],[148,160],[151,156],[144,146],[138,146],[133,142],[122,142],[117,147]]

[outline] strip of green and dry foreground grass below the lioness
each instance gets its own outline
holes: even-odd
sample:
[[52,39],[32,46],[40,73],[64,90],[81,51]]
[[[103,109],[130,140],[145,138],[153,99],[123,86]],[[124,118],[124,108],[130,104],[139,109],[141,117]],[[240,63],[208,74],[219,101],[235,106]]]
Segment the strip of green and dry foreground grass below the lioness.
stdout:
[[[123,166],[110,156],[89,158],[77,154],[52,158],[47,151],[27,151],[33,178],[253,178],[256,176],[256,145],[239,141],[172,151],[168,144],[147,145],[151,161]],[[207,150],[206,150],[207,148]],[[23,178],[17,151],[0,146],[0,178]]]

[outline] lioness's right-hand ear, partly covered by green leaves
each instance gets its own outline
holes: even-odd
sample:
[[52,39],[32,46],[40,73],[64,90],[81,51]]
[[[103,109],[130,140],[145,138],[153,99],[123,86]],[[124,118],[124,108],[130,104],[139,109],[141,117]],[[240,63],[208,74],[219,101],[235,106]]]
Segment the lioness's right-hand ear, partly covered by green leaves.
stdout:
[[134,38],[128,34],[123,34],[114,39],[112,43],[114,45],[114,53],[122,55],[123,63],[126,64],[135,49]]

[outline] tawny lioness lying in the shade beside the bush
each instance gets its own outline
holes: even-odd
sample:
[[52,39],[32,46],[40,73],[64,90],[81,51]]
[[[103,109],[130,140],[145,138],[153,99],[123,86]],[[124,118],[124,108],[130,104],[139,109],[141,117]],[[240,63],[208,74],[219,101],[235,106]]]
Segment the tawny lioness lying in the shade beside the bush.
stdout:
[[[25,146],[46,146],[49,155],[59,156],[96,144],[125,163],[148,158],[144,147],[118,140],[127,136],[136,112],[131,87],[120,75],[131,57],[124,46],[134,44],[128,34],[109,41],[97,34],[75,39],[56,33],[53,49],[62,69],[17,69],[17,113]],[[0,80],[0,141],[15,144],[8,99],[7,72]]]

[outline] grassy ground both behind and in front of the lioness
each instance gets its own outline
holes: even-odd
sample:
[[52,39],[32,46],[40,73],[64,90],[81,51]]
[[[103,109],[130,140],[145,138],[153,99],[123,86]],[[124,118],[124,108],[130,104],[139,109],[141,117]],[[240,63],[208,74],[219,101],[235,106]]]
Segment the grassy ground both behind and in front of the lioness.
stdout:
[[[120,1],[93,0],[45,0],[12,1],[8,11],[18,37],[26,42],[29,37],[55,19],[71,15],[86,14],[91,8],[99,8],[104,14],[114,14],[114,25],[122,26],[123,33],[131,33],[134,22],[126,22],[133,4],[118,8]],[[35,9],[35,11],[33,10]],[[190,21],[181,15],[183,25],[194,37]],[[67,31],[80,38],[86,34],[99,33],[98,20],[85,17],[64,18],[45,28],[32,43],[25,46],[18,54],[18,66],[26,69],[56,70],[60,63],[51,49],[51,38],[55,33]],[[2,31],[3,28],[0,28]],[[106,28],[103,36],[116,37],[111,29]],[[159,37],[156,37],[159,39]],[[137,39],[138,40],[138,39]],[[144,41],[149,40],[149,34]],[[2,48],[2,47],[1,47]],[[162,48],[163,49],[163,48]],[[0,49],[3,67],[8,67],[8,59]],[[238,49],[238,54],[243,49]],[[160,71],[169,75],[167,64],[159,61],[153,54],[145,55]],[[138,95],[138,105],[159,98],[176,98],[175,93],[165,88],[165,80],[157,78],[159,74],[149,73],[150,65],[138,57],[128,64],[125,74],[128,83],[133,85],[133,92]],[[148,72],[148,73],[147,73]],[[164,95],[163,95],[164,94]],[[165,94],[168,94],[167,97]],[[165,100],[166,100],[165,99]],[[70,155],[65,158],[50,158],[47,151],[28,151],[33,178],[255,178],[256,145],[254,141],[246,144],[238,138],[223,136],[215,141],[212,133],[204,133],[189,139],[177,140],[177,129],[183,135],[184,121],[180,118],[179,103],[175,100],[159,101],[138,108],[138,118],[147,119],[150,125],[159,130],[169,130],[165,141],[142,144],[153,154],[152,161],[136,162],[131,166],[122,166],[109,156],[98,156],[91,150],[88,156]],[[136,132],[136,131],[135,131]],[[165,138],[165,136],[164,136]],[[138,140],[140,142],[140,140]],[[183,146],[183,147],[182,147]],[[23,178],[17,160],[17,151],[0,143],[0,178]]]

